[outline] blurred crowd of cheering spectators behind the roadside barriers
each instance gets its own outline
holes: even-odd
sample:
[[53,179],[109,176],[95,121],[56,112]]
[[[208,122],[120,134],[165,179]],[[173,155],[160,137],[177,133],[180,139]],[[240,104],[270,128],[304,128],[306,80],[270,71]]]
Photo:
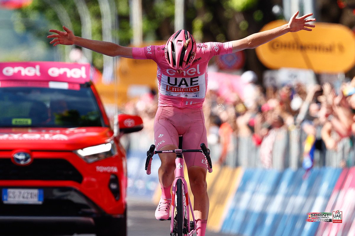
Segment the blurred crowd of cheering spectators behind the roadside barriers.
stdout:
[[[243,77],[244,76],[244,77]],[[264,88],[257,84],[253,71],[241,77],[247,92],[237,92],[226,100],[218,90],[208,89],[203,110],[209,144],[219,144],[218,162],[225,162],[232,136],[252,137],[260,148],[264,168],[271,168],[272,146],[279,129],[300,129],[306,135],[302,142],[302,165],[313,165],[314,149],[338,150],[339,142],[355,135],[355,78],[339,87],[331,83],[305,85],[300,82]],[[126,104],[125,112],[143,118],[148,135],[153,137],[153,121],[157,109],[157,92],[144,95]],[[339,167],[352,166],[346,158]]]

